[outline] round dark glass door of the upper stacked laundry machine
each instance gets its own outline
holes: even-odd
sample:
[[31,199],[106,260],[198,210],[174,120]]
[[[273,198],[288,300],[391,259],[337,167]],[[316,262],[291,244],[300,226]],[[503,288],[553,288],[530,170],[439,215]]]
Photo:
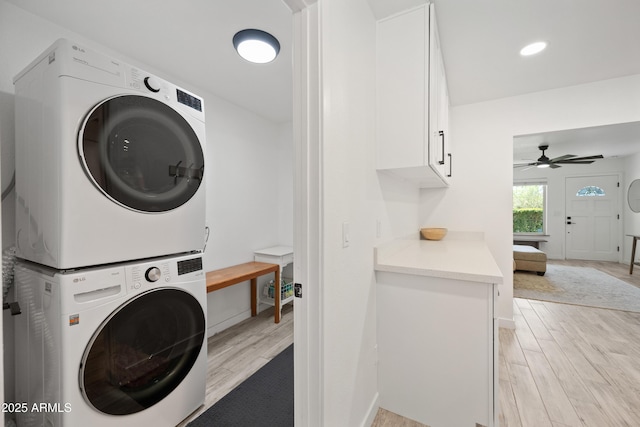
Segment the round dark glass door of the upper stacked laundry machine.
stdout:
[[198,191],[204,154],[189,123],[153,98],[109,98],[87,115],[79,134],[87,175],[111,200],[141,212],[164,212]]

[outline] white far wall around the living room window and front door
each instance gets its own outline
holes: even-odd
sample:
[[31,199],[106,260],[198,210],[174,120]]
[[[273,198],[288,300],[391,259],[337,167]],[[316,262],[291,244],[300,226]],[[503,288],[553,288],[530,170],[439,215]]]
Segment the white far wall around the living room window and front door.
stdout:
[[[588,155],[600,153],[590,153]],[[596,160],[590,165],[565,165],[558,169],[531,168],[526,171],[514,169],[514,182],[527,179],[543,179],[547,182],[547,234],[546,243],[540,243],[540,249],[545,251],[550,259],[564,259],[565,257],[565,179],[573,176],[593,175],[622,175],[624,176],[624,160],[622,158]],[[622,182],[620,183],[622,185]],[[620,191],[620,199],[623,192]],[[620,218],[623,218],[620,205]],[[622,227],[620,227],[622,229]],[[622,233],[620,233],[622,234]],[[622,246],[622,235],[618,237]],[[622,256],[622,253],[620,254]]]

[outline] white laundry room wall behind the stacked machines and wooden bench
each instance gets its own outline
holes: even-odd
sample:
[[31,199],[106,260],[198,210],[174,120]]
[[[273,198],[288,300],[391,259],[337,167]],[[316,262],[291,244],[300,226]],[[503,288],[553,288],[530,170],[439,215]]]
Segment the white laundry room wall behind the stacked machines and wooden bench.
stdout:
[[[291,122],[274,123],[232,102],[114,52],[0,0],[0,161],[5,190],[14,171],[13,77],[56,39],[66,37],[138,66],[204,98],[206,112],[207,226],[204,268],[253,259],[253,251],[293,241]],[[2,203],[2,248],[14,245],[14,193]],[[204,235],[204,230],[203,230]],[[209,335],[250,316],[249,284],[208,296]],[[13,322],[3,315],[5,401],[13,395]],[[2,372],[0,372],[2,375]],[[0,378],[1,380],[2,378]]]

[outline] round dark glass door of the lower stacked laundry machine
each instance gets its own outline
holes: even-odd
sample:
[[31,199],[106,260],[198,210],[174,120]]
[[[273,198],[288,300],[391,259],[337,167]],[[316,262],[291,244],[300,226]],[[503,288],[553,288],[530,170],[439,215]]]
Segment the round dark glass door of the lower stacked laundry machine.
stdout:
[[80,389],[93,408],[128,415],[171,393],[193,367],[205,336],[198,301],[173,288],[146,292],[118,308],[85,349]]

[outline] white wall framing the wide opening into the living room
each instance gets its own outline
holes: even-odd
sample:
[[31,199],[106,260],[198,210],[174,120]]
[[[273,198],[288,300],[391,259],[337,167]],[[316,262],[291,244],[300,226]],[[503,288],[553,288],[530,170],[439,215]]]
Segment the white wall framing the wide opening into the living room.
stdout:
[[453,178],[422,190],[420,225],[484,231],[504,275],[498,316],[513,327],[513,137],[640,119],[640,75],[451,109]]

